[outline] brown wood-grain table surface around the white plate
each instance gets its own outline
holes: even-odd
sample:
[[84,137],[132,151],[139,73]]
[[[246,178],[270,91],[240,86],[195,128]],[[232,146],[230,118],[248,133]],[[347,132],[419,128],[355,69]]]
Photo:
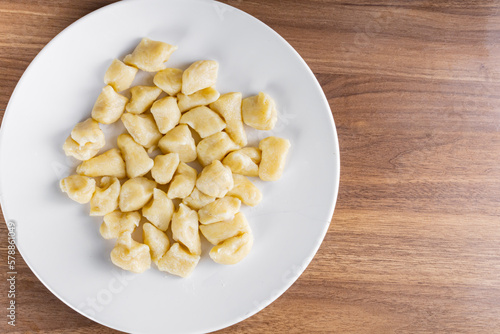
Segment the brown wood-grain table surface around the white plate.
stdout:
[[[57,33],[113,1],[0,1],[0,111]],[[302,55],[341,149],[330,230],[300,279],[220,333],[500,332],[500,2],[233,0]],[[0,268],[7,235],[0,224]],[[18,325],[113,333],[18,263]]]

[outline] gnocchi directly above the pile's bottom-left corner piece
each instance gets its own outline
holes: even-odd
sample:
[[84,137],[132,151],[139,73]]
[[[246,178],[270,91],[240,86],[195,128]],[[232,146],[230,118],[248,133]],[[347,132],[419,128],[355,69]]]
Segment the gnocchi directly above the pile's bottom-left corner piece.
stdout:
[[104,239],[118,238],[122,233],[132,233],[139,226],[139,212],[113,211],[104,216],[99,232]]

